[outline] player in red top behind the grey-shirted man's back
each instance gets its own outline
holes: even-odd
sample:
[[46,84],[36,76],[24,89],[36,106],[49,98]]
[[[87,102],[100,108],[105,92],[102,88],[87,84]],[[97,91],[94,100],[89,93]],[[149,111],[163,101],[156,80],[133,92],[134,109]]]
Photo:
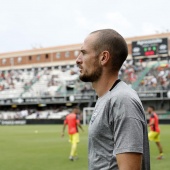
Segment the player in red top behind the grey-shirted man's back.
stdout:
[[160,128],[159,128],[159,119],[158,115],[155,112],[154,106],[149,106],[147,109],[147,112],[150,114],[149,124],[150,132],[148,134],[149,140],[154,141],[156,143],[156,146],[159,150],[159,156],[157,159],[163,158],[163,150],[160,143]]

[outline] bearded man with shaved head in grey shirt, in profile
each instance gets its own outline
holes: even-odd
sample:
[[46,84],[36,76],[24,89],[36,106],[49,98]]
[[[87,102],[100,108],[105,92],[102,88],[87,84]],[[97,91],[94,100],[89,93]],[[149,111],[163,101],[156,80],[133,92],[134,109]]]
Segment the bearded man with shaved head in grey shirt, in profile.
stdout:
[[147,123],[136,92],[118,79],[128,54],[112,29],[92,32],[76,63],[98,100],[89,125],[89,170],[149,170]]

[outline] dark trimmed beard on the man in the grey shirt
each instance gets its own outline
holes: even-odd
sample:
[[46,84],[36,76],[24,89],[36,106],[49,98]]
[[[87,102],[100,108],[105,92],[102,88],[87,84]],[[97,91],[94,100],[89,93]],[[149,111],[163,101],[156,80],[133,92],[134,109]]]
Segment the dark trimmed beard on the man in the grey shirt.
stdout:
[[98,65],[96,67],[95,64],[93,66],[95,68],[93,70],[93,73],[91,73],[89,75],[88,74],[84,74],[84,75],[80,75],[79,76],[81,81],[83,81],[83,82],[95,82],[95,81],[97,81],[100,78],[100,76],[102,74],[102,67],[100,65]]

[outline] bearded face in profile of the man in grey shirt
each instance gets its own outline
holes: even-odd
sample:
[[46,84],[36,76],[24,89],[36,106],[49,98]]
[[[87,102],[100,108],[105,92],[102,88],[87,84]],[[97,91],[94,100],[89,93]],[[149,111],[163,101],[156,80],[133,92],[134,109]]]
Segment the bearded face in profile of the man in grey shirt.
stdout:
[[102,66],[100,64],[100,54],[94,50],[96,34],[89,35],[80,50],[80,54],[76,59],[79,67],[79,78],[84,82],[98,81],[102,74]]

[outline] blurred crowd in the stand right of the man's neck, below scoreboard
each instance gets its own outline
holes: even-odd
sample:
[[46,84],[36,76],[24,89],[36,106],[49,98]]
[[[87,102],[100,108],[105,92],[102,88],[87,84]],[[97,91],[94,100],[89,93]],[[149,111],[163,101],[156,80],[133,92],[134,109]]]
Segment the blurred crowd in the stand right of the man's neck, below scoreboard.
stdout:
[[168,62],[138,62],[133,64],[133,60],[126,61],[119,76],[129,85],[139,81],[137,91],[170,89],[170,64]]

